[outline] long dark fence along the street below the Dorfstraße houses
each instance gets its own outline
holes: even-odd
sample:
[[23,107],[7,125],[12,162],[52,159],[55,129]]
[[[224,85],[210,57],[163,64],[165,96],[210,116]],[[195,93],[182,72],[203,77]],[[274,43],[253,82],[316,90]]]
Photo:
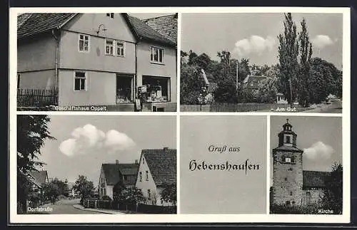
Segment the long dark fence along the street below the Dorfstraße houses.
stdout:
[[118,201],[84,199],[85,208],[134,211],[142,214],[176,214],[176,206],[159,206],[149,204],[125,204]]

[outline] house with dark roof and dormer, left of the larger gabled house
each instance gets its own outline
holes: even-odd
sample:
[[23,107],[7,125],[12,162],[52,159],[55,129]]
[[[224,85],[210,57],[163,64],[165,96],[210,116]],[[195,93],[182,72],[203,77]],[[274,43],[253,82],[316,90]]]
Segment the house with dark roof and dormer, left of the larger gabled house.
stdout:
[[99,176],[98,193],[99,197],[114,197],[116,189],[121,187],[134,187],[136,174],[138,174],[138,162],[134,164],[101,164],[101,174]]

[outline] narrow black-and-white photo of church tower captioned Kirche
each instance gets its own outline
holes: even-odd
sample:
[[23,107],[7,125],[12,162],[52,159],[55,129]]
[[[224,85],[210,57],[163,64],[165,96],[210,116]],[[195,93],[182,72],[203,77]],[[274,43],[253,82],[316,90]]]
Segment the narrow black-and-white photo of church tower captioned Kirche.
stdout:
[[341,140],[341,117],[271,117],[271,214],[342,214]]

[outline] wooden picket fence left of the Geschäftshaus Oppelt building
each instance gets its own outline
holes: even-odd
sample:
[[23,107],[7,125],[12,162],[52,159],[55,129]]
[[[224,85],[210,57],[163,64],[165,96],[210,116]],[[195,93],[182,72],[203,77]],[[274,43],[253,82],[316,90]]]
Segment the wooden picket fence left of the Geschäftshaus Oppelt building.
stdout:
[[17,107],[45,107],[58,102],[57,90],[17,89]]

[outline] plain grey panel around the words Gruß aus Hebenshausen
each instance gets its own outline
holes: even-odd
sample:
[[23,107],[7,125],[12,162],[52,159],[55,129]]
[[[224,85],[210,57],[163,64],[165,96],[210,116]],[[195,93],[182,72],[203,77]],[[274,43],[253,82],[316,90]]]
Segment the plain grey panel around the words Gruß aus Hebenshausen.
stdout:
[[[266,213],[266,117],[181,116],[180,210],[183,214]],[[208,152],[209,145],[240,147],[238,153]],[[261,170],[193,171],[191,160],[207,164],[246,160]],[[253,204],[253,205],[252,205]]]

